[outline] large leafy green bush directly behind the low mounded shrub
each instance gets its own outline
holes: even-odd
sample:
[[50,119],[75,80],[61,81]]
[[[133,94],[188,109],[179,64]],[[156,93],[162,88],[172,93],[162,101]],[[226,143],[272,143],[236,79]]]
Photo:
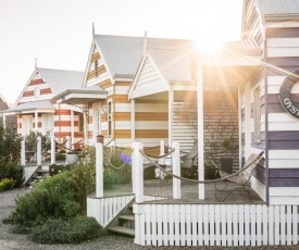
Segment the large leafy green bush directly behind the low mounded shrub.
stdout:
[[76,198],[72,172],[65,171],[38,183],[32,191],[18,197],[12,220],[21,226],[33,227],[49,217],[70,217],[79,213],[82,208]]

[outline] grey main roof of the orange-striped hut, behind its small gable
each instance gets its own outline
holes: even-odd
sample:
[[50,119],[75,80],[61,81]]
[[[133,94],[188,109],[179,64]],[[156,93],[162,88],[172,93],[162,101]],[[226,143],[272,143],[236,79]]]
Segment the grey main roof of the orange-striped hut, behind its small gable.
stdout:
[[[113,77],[133,77],[138,68],[144,53],[144,37],[126,37],[96,35],[96,40]],[[190,40],[147,38],[151,48],[178,49],[192,43]]]

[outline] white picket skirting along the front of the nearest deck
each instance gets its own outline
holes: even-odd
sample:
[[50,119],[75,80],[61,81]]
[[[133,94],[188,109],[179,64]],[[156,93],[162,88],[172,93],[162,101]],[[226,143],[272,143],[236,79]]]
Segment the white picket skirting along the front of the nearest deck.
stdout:
[[134,204],[141,246],[298,245],[298,205]]

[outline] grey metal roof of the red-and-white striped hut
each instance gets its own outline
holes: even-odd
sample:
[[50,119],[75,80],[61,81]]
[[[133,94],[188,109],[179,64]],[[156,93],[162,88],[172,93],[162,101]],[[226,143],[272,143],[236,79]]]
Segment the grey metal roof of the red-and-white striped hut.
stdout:
[[64,71],[38,67],[42,78],[49,84],[53,93],[59,93],[65,89],[80,88],[83,85],[84,72]]

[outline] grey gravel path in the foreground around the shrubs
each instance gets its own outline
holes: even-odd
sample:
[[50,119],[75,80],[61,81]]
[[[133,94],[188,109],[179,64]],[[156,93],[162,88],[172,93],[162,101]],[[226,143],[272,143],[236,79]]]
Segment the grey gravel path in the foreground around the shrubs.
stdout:
[[[2,224],[2,220],[11,214],[15,205],[15,198],[18,195],[24,195],[28,191],[27,188],[14,189],[11,191],[0,192],[0,249],[22,249],[22,250],[50,250],[50,249],[63,249],[63,250],[76,250],[76,249],[208,249],[208,250],[222,250],[222,249],[239,249],[237,248],[224,248],[224,247],[140,247],[134,245],[133,238],[123,237],[117,235],[102,236],[96,240],[87,241],[79,245],[39,245],[32,242],[26,235],[11,234],[11,225]],[[259,247],[259,248],[242,248],[242,249],[299,249],[299,246],[294,247]]]

